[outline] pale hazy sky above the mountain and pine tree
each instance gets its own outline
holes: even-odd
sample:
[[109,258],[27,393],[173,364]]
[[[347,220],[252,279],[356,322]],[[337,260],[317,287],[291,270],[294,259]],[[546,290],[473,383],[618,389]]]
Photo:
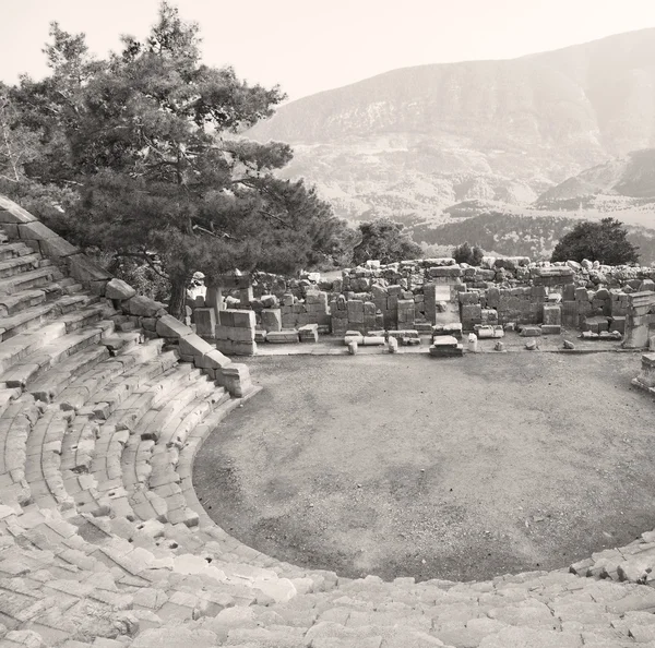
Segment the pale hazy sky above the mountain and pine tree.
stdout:
[[[49,21],[99,56],[144,36],[158,0],[0,0],[0,79],[46,68]],[[178,0],[207,63],[295,99],[395,68],[513,58],[655,26],[655,0]]]

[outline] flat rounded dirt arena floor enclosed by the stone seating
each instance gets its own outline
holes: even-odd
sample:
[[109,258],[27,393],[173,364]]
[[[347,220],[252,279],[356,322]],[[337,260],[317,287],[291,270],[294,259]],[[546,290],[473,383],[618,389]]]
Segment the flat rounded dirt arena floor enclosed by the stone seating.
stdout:
[[262,357],[201,449],[213,519],[343,576],[551,569],[655,528],[639,355]]

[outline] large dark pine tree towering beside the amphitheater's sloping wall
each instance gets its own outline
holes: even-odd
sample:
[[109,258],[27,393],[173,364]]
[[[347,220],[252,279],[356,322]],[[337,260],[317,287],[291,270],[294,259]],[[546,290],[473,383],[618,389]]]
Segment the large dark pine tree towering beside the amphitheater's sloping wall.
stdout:
[[341,252],[345,224],[330,205],[275,175],[289,146],[243,135],[284,99],[279,87],[205,65],[198,25],[176,7],[162,2],[150,36],[123,37],[107,60],[57,23],[50,38],[50,74],[4,94],[9,128],[38,140],[25,179],[74,192],[50,214],[61,233],[150,264],[178,315],[194,272],[288,273]]

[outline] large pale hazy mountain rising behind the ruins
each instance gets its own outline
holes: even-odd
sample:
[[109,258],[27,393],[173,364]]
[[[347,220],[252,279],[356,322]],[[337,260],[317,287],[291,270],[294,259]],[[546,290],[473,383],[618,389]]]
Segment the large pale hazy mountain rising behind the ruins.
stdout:
[[443,221],[463,201],[529,204],[655,147],[655,29],[394,70],[291,101],[249,136],[290,143],[285,176],[315,183],[350,220]]

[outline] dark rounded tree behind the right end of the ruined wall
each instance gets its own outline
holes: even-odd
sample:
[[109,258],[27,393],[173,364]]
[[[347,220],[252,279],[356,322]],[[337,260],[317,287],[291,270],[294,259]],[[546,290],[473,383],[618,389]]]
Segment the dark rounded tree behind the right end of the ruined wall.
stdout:
[[638,263],[639,248],[627,236],[628,230],[616,218],[603,218],[599,223],[583,220],[559,240],[550,260],[587,259],[607,265]]

